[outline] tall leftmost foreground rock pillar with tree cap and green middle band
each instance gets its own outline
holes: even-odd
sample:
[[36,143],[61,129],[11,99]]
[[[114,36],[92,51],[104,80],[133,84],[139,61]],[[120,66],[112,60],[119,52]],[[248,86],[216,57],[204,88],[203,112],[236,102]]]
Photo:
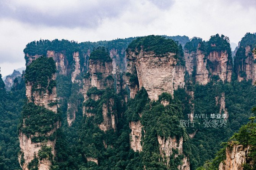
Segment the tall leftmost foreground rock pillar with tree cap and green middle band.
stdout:
[[53,58],[46,57],[37,58],[26,69],[28,103],[22,112],[23,124],[19,133],[19,162],[23,170],[49,170],[52,165],[55,155],[54,132],[60,126],[55,72]]

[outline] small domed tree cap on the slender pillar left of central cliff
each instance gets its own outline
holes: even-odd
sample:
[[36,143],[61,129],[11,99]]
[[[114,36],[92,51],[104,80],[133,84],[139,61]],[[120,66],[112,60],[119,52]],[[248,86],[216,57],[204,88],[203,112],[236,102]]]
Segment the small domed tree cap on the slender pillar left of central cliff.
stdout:
[[102,60],[106,62],[111,62],[112,59],[108,55],[105,47],[97,47],[91,52],[90,59],[92,60]]

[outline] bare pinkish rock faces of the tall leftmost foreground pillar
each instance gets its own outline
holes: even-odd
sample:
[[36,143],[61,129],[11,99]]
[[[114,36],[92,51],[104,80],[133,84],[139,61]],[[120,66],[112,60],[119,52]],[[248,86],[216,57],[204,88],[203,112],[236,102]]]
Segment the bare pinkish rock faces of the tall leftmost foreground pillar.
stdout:
[[[31,61],[32,62],[32,61]],[[52,77],[48,79],[48,86],[50,81],[55,80],[55,74],[52,74]],[[50,111],[53,111],[57,113],[57,93],[56,93],[56,87],[52,88],[52,91],[50,92],[48,88],[46,90],[40,90],[41,85],[39,84],[37,86],[37,90],[32,90],[33,82],[27,82],[26,83],[26,96],[28,99],[28,102],[33,102],[34,104],[38,106],[43,106]],[[47,87],[48,87],[47,86]],[[23,119],[24,121],[24,119]],[[23,127],[25,126],[25,123],[23,122]],[[59,121],[57,121],[53,127],[52,130],[47,132],[47,134],[44,134],[45,136],[49,137],[52,135],[58,128],[60,127]],[[19,155],[19,162],[23,170],[29,170],[28,164],[34,159],[34,155],[38,158],[38,152],[41,149],[42,145],[45,145],[47,147],[50,147],[52,149],[53,157],[55,156],[55,140],[47,140],[47,142],[32,142],[32,137],[37,137],[39,134],[36,132],[35,135],[26,135],[22,131],[19,133],[19,140],[20,140],[20,148],[21,148],[21,154]],[[38,163],[38,169],[40,170],[49,170],[50,166],[52,165],[52,162],[49,159],[42,159],[39,160]]]

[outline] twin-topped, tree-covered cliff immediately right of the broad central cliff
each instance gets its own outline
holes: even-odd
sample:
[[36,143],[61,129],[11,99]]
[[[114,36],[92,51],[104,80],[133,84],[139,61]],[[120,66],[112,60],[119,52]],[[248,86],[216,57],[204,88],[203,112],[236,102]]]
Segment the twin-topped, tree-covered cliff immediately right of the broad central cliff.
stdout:
[[228,38],[218,34],[209,41],[193,38],[185,45],[186,70],[195,83],[206,85],[213,76],[231,81],[233,73],[231,49]]

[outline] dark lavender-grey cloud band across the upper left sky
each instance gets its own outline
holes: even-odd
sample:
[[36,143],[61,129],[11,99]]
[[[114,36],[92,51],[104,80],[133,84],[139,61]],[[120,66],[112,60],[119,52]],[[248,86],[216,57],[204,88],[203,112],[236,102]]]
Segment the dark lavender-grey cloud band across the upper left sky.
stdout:
[[62,26],[66,28],[95,28],[105,18],[118,17],[130,3],[129,0],[98,0],[97,2],[99,5],[91,8],[87,8],[86,3],[81,3],[81,5],[79,4],[80,6],[75,9],[63,9],[61,13],[56,15],[50,12],[44,13],[31,6],[16,7],[15,4],[8,4],[8,2],[9,1],[7,0],[1,0],[0,18],[15,19],[17,21],[30,23],[35,26]]

